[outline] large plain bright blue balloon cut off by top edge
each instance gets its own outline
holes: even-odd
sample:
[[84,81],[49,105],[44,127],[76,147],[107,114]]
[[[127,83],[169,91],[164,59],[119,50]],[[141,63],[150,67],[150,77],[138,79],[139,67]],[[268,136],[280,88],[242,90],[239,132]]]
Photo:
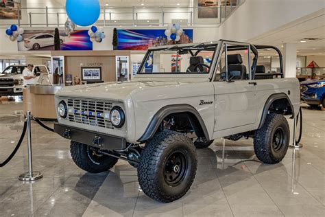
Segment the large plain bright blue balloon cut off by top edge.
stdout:
[[99,18],[99,0],[67,0],[65,7],[69,18],[76,25],[92,25]]

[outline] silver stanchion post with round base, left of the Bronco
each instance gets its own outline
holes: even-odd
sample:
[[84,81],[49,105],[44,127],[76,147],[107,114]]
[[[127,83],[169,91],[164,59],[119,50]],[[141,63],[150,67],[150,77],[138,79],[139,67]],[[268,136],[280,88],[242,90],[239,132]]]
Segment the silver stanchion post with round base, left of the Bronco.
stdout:
[[27,152],[28,152],[28,172],[25,172],[19,176],[21,181],[35,181],[43,178],[41,172],[33,172],[33,160],[32,160],[32,128],[31,128],[31,114],[30,111],[26,113],[27,119]]

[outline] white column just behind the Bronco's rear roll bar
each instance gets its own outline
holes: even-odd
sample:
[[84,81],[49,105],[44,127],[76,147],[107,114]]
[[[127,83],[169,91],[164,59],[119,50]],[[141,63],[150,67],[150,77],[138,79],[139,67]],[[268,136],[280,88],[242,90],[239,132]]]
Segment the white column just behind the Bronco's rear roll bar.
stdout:
[[296,78],[297,45],[285,44],[283,46],[283,67],[285,78]]

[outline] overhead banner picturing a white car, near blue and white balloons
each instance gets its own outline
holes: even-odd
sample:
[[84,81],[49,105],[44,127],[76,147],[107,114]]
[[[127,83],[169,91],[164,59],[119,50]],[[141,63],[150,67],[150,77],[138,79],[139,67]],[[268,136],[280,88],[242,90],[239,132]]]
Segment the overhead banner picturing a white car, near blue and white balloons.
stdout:
[[[92,50],[93,43],[88,30],[77,30],[70,37],[59,31],[61,50]],[[18,43],[19,51],[54,50],[54,30],[25,30],[23,41]]]

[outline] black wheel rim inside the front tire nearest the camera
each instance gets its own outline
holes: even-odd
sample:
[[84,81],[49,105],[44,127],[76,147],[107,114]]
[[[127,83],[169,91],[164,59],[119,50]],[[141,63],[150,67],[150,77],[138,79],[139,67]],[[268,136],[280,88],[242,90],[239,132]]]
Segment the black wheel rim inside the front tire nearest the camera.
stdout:
[[183,152],[177,150],[172,152],[165,163],[164,177],[168,185],[179,185],[186,176],[188,162]]

